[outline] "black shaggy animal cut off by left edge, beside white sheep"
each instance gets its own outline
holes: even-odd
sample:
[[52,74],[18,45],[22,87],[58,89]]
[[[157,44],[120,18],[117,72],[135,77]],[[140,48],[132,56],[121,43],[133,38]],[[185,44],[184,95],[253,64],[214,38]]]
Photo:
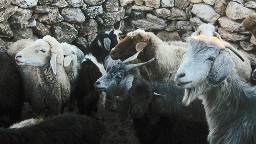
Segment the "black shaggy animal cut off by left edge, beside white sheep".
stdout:
[[22,113],[24,91],[14,59],[0,52],[0,127],[17,122]]

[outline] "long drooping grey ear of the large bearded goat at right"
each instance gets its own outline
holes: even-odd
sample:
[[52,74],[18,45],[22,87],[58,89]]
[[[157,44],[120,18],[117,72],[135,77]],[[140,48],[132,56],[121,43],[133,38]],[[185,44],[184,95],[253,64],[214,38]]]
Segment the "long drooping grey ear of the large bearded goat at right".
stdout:
[[207,83],[211,86],[217,86],[222,83],[234,68],[234,62],[223,53],[219,54],[211,67]]

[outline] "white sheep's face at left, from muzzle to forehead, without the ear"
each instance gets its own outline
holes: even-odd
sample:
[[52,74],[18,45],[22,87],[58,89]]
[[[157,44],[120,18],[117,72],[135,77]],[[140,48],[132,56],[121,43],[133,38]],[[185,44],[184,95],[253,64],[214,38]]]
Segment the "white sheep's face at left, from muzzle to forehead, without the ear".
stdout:
[[27,46],[15,56],[18,65],[45,66],[50,60],[50,45],[42,39]]

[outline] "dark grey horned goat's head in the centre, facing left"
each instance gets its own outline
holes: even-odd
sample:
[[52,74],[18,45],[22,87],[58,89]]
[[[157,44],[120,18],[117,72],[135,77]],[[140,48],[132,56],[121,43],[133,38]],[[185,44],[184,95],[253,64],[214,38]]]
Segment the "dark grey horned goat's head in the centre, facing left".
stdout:
[[103,75],[95,82],[95,88],[101,91],[105,91],[114,95],[126,95],[129,89],[132,87],[132,82],[135,75],[140,75],[138,69],[135,67],[144,66],[152,62],[150,61],[139,64],[127,64],[136,59],[140,52],[126,59],[125,61],[117,60],[113,63],[108,73]]

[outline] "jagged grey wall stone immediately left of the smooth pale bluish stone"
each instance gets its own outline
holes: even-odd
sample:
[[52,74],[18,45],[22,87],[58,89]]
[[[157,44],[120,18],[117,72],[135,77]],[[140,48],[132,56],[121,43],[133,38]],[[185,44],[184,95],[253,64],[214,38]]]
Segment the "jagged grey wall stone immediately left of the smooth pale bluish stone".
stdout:
[[55,24],[63,21],[64,18],[59,14],[58,9],[52,9],[49,14],[41,14],[38,16],[39,22],[45,22],[47,24]]

